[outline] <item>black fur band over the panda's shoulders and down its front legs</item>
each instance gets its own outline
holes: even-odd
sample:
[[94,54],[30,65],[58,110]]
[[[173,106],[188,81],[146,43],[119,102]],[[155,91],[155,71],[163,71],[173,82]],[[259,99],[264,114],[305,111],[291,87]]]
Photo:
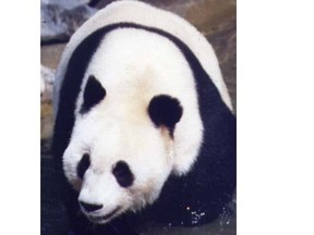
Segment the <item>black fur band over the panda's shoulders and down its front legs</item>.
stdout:
[[[80,213],[77,193],[67,182],[62,173],[62,154],[69,145],[74,125],[75,101],[80,92],[84,72],[106,34],[117,28],[137,28],[158,34],[172,41],[189,62],[195,78],[198,107],[204,125],[203,145],[197,161],[184,176],[171,175],[166,182],[158,201],[148,208],[148,217],[173,225],[200,225],[218,217],[225,205],[231,200],[235,188],[235,118],[226,107],[221,97],[202,67],[197,58],[177,37],[158,28],[133,23],[105,26],[85,38],[74,50],[65,72],[60,91],[59,111],[53,136],[53,154],[63,184],[63,198],[68,206],[71,226],[76,234],[134,234],[125,221],[117,219],[111,225],[90,226]],[[189,133],[186,133],[189,135]],[[190,208],[188,210],[186,208]],[[204,213],[195,218],[192,211]]]

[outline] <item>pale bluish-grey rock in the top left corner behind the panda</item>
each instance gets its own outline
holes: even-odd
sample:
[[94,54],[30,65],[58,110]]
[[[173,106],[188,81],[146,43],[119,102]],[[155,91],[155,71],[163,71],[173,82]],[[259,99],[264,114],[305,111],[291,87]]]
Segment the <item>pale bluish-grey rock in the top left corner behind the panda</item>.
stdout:
[[41,44],[67,41],[71,35],[97,10],[89,8],[84,0],[41,1]]

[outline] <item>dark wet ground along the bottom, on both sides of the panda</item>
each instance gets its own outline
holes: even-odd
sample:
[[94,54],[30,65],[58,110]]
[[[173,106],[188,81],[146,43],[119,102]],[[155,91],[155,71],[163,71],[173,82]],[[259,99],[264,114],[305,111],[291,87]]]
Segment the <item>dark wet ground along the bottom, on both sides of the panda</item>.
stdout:
[[[65,208],[55,188],[53,160],[48,152],[41,153],[41,234],[67,234],[68,219]],[[233,206],[234,207],[234,203]],[[174,227],[162,224],[145,224],[141,235],[234,235],[235,214],[221,214],[216,221],[198,227]]]

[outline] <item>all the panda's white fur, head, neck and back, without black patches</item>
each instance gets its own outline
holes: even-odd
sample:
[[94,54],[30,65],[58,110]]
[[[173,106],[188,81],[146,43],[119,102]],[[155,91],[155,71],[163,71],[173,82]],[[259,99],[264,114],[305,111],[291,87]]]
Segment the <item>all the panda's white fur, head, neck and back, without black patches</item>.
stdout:
[[[231,107],[217,59],[206,39],[184,20],[133,1],[108,5],[73,35],[59,64],[55,95],[60,90],[69,58],[82,39],[117,22],[158,27],[183,40]],[[107,94],[82,115],[78,111],[89,75],[100,82]],[[156,128],[147,113],[149,101],[157,95],[176,97],[183,107],[173,139],[166,128]],[[58,99],[55,96],[55,111]],[[195,82],[180,50],[160,35],[120,28],[100,42],[86,70],[71,140],[63,154],[63,169],[69,182],[80,191],[80,200],[104,205],[102,209],[86,213],[87,217],[106,215],[121,207],[116,214],[119,215],[154,202],[171,171],[179,175],[189,172],[202,145],[202,135]],[[82,182],[76,169],[85,152],[89,153],[92,163]],[[128,188],[119,186],[112,174],[119,160],[125,161],[135,176]]]

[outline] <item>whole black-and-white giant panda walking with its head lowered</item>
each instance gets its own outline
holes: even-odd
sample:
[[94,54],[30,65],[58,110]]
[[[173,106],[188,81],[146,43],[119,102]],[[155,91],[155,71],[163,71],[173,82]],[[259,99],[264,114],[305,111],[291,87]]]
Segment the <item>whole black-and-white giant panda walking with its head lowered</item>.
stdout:
[[53,87],[52,150],[72,234],[195,226],[235,188],[235,118],[205,37],[137,1],[71,37]]

